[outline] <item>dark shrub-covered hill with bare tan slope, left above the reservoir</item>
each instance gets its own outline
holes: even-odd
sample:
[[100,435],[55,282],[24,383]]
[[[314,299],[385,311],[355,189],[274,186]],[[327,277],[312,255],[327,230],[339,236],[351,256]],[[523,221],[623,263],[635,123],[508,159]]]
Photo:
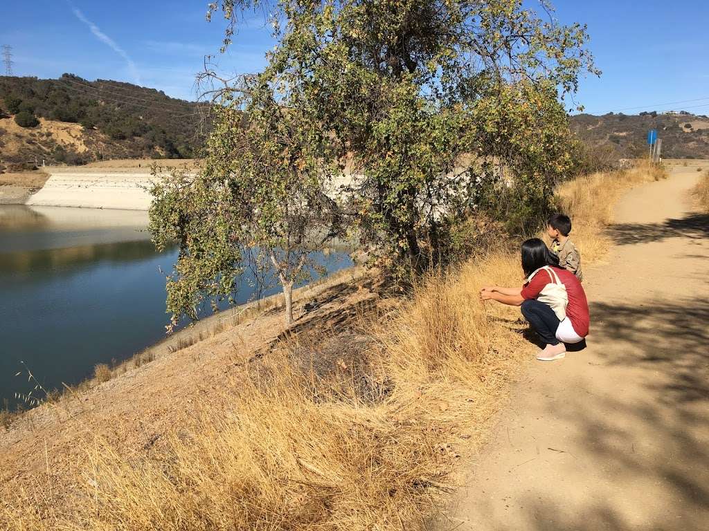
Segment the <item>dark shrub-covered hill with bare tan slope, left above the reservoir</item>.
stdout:
[[208,132],[207,109],[119,81],[0,76],[0,159],[188,159]]

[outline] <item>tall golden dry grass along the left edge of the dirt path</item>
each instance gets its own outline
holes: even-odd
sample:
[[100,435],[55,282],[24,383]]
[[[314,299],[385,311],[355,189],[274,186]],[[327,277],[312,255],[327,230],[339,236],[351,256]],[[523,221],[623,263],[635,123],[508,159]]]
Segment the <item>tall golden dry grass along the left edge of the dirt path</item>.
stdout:
[[[599,231],[623,189],[653,178],[635,169],[562,187],[584,258],[601,254]],[[342,367],[321,379],[296,368],[294,347],[284,343],[245,367],[219,399],[199,404],[159,448],[125,455],[96,435],[77,464],[77,488],[60,498],[49,484],[16,489],[0,503],[0,523],[11,530],[423,528],[529,357],[518,310],[478,299],[481,285],[518,285],[521,275],[518,256],[493,254],[429,278],[389,314],[364,317],[360,327],[372,339],[364,373]]]

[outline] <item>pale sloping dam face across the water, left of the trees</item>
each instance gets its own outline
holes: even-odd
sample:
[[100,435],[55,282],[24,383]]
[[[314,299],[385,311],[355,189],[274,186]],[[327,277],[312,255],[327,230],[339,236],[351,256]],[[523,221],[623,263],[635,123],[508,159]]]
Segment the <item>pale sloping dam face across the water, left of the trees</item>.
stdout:
[[106,169],[52,169],[41,190],[27,205],[50,207],[116,208],[148,210],[150,186],[155,181],[147,171]]

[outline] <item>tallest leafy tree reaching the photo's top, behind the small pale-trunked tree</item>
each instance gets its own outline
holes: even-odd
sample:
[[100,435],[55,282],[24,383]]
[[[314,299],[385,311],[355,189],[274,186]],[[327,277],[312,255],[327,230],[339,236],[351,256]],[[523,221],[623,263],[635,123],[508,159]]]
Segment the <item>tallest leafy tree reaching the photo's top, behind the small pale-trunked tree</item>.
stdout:
[[[232,21],[225,46],[252,5],[211,4]],[[301,79],[340,139],[352,176],[345,196],[374,255],[415,272],[435,265],[440,212],[469,211],[508,188],[523,207],[510,228],[543,215],[554,181],[573,167],[557,88],[573,92],[582,70],[597,72],[584,26],[543,21],[518,0],[278,6],[266,75]],[[494,203],[484,202],[507,212]]]

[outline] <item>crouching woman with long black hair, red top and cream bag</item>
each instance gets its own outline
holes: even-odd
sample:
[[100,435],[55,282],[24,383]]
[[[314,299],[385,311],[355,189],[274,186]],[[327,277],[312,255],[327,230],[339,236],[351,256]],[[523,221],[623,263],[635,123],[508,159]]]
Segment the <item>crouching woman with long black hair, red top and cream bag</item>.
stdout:
[[522,244],[522,269],[527,282],[521,288],[487,286],[483,300],[520,306],[523,316],[545,343],[537,360],[564,358],[566,344],[584,341],[590,316],[581,282],[573,273],[559,268],[557,258],[539,238]]

